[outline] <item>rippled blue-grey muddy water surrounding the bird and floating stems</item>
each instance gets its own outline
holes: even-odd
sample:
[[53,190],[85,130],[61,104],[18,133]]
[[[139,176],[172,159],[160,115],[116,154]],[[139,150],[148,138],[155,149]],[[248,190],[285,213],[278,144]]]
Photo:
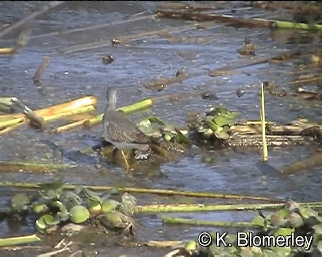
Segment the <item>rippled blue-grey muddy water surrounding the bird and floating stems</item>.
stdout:
[[[13,23],[31,14],[43,5],[42,2],[6,2],[0,3],[1,23]],[[208,5],[210,5],[208,3]],[[218,2],[219,10],[230,14],[239,2]],[[218,100],[208,101],[201,98],[184,99],[176,102],[159,102],[152,109],[132,115],[133,121],[142,116],[158,117],[184,125],[189,111],[203,111],[211,106],[222,104],[231,110],[239,111],[243,119],[259,119],[258,90],[262,80],[274,80],[276,84],[292,81],[292,73],[300,67],[291,63],[261,64],[238,70],[235,75],[210,77],[211,69],[235,64],[248,64],[250,57],[242,57],[237,50],[244,37],[258,45],[257,57],[267,58],[278,55],[286,49],[297,46],[273,40],[267,29],[233,28],[213,24],[208,29],[197,30],[192,22],[153,18],[154,2],[70,2],[55,8],[30,22],[32,35],[26,48],[12,58],[0,57],[1,95],[16,96],[32,109],[66,102],[84,95],[98,98],[97,113],[102,113],[106,102],[105,91],[108,85],[118,86],[118,105],[126,105],[142,98],[169,93],[193,92],[203,88],[215,93]],[[273,12],[240,8],[237,15],[247,17],[272,17]],[[101,26],[100,26],[101,25]],[[82,28],[92,26],[89,30]],[[188,27],[189,26],[189,27]],[[81,28],[81,29],[78,29]],[[172,37],[156,34],[138,37],[126,45],[103,47],[86,51],[76,51],[78,44],[108,41],[111,38],[139,34],[146,31],[171,28]],[[20,30],[14,30],[0,39],[2,47],[13,45]],[[69,47],[73,46],[73,49]],[[68,47],[68,48],[67,48]],[[310,49],[309,44],[302,46]],[[66,50],[66,51],[62,51]],[[67,51],[68,50],[68,51]],[[100,55],[111,54],[115,61],[103,65]],[[50,57],[50,64],[43,75],[45,96],[37,91],[32,76],[44,56]],[[163,92],[153,92],[143,84],[157,77],[173,76],[184,68],[192,75],[181,84],[166,87]],[[236,90],[243,88],[245,95],[237,98]],[[292,86],[285,87],[293,91]],[[298,116],[316,119],[320,114],[317,104],[308,107],[292,98],[267,97],[267,119],[288,122]],[[296,176],[282,178],[278,173],[259,162],[261,152],[254,149],[213,150],[193,148],[177,163],[163,164],[149,173],[138,172],[133,176],[126,174],[114,164],[102,162],[97,156],[81,156],[73,151],[94,145],[100,141],[101,126],[92,129],[77,129],[60,134],[51,134],[50,128],[57,123],[47,125],[43,133],[23,126],[1,136],[1,160],[33,160],[34,158],[50,162],[45,155],[53,149],[44,140],[61,146],[64,150],[63,162],[76,163],[77,168],[54,174],[0,173],[0,180],[49,182],[58,177],[72,184],[121,185],[152,188],[173,188],[197,191],[218,191],[246,195],[263,195],[296,201],[320,201],[321,174],[310,170]],[[310,156],[314,149],[310,146],[297,146],[269,150],[269,164],[276,169],[296,160]],[[213,162],[206,163],[205,157]],[[101,163],[100,169],[95,168]],[[16,189],[0,189],[0,205],[5,205]],[[164,198],[138,196],[139,203],[152,200],[165,201]],[[171,199],[168,199],[171,200]],[[252,215],[245,213],[207,213],[172,214],[214,220],[248,220]],[[163,227],[159,215],[138,215],[142,225],[137,240],[177,240],[193,239],[205,228]],[[33,221],[12,229],[2,223],[0,236],[28,234],[34,231]],[[163,231],[160,233],[159,231]],[[113,248],[114,249],[114,248]],[[98,250],[102,256],[106,247],[102,244]],[[110,248],[108,250],[111,250]],[[146,249],[145,249],[146,250]],[[144,251],[145,251],[144,250]],[[137,249],[135,250],[137,251]],[[139,251],[139,250],[138,250]],[[115,248],[116,254],[124,254],[126,249]],[[128,250],[133,255],[140,252]],[[150,253],[152,256],[153,254]]]

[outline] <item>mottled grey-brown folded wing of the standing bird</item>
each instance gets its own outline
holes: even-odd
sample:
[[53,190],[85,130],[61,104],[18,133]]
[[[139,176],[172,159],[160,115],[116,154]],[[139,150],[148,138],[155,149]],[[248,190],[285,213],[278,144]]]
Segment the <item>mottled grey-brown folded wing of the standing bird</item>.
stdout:
[[150,144],[150,138],[143,133],[132,121],[128,120],[123,113],[108,113],[108,130],[114,141],[124,143]]

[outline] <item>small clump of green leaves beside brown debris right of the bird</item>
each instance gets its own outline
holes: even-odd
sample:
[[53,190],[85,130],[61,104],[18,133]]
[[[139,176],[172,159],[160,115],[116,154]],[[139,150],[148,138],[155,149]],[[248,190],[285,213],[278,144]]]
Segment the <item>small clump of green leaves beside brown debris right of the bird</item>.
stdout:
[[229,127],[234,124],[237,112],[230,112],[226,108],[211,108],[201,121],[198,132],[205,139],[229,139]]

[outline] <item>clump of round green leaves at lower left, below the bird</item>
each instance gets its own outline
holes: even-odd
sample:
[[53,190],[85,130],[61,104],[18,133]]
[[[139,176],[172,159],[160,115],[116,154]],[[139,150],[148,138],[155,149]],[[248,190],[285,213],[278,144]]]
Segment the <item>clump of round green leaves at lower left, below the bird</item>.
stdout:
[[[38,218],[35,227],[38,232],[49,234],[65,223],[80,224],[90,217],[96,219],[99,215],[119,212],[124,216],[134,213],[136,198],[128,193],[122,196],[122,202],[110,199],[115,190],[97,193],[87,187],[77,187],[75,190],[64,190],[62,181],[44,184],[37,195],[15,195],[9,205],[0,210],[2,217],[36,214]],[[129,224],[127,224],[128,226]],[[110,228],[110,227],[109,227]]]

